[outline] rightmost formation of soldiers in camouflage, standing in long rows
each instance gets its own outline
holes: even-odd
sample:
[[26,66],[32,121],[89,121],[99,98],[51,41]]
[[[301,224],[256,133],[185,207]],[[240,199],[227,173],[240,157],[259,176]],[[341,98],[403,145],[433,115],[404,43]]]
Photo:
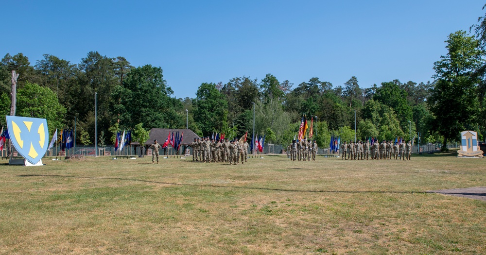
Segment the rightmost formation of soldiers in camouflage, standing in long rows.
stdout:
[[341,144],[341,153],[343,160],[368,160],[371,159],[395,159],[395,160],[410,160],[412,154],[412,143],[408,140],[395,142],[383,140],[381,143],[374,142],[370,144],[369,141],[352,140]]

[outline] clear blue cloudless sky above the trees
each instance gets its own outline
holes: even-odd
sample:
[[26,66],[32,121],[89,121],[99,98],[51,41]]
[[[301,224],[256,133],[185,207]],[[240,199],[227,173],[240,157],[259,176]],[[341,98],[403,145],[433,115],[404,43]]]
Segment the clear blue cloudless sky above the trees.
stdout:
[[[0,57],[78,64],[88,51],[161,67],[177,98],[204,82],[267,73],[361,87],[427,82],[447,36],[484,16],[479,0],[3,1]],[[14,13],[15,11],[15,13]]]

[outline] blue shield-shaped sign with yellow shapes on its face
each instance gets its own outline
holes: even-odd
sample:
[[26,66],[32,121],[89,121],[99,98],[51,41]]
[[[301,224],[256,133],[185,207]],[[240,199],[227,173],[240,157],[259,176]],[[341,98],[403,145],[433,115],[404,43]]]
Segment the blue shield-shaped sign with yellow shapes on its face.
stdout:
[[5,116],[8,134],[15,149],[27,161],[36,164],[47,151],[49,129],[46,119]]

